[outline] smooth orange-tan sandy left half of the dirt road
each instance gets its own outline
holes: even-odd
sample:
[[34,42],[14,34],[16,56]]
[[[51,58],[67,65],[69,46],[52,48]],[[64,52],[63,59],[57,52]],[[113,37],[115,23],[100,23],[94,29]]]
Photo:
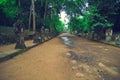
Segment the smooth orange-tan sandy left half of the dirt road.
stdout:
[[[0,80],[69,80],[68,49],[58,38],[0,64]],[[69,76],[69,77],[68,77]]]

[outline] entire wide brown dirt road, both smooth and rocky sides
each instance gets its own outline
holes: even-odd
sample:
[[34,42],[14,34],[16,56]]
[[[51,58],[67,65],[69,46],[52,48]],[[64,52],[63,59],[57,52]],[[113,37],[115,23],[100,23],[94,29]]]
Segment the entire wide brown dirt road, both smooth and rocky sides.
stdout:
[[0,63],[0,80],[120,80],[120,49],[62,34]]

